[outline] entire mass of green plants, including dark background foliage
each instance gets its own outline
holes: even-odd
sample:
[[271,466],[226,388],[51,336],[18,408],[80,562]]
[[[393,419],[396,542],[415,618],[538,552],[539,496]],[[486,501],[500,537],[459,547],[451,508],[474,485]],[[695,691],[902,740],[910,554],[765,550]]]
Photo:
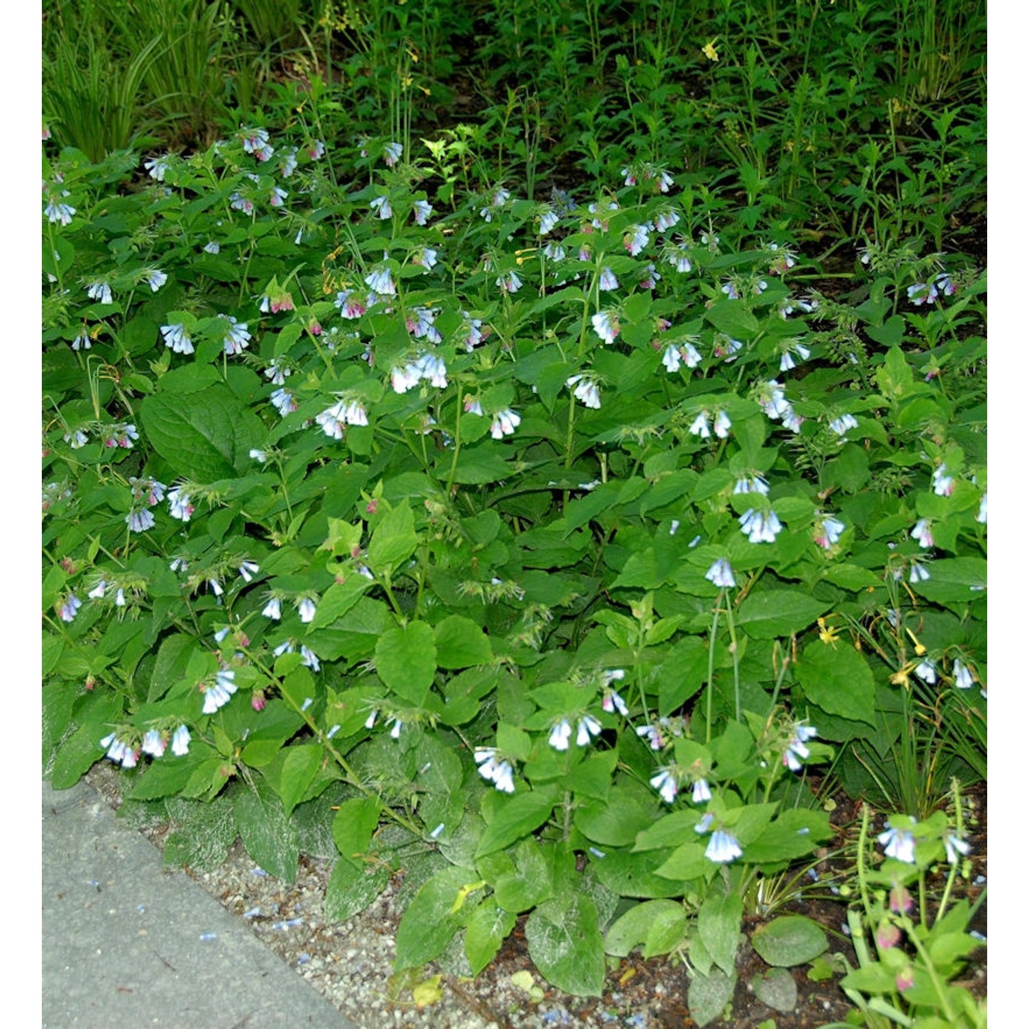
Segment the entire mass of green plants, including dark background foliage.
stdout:
[[985,1024],[953,985],[987,707],[978,22],[838,6],[788,8],[789,40],[774,5],[298,7],[303,79],[142,152],[146,46],[238,69],[282,42],[262,5],[136,23],[153,95],[117,138],[71,137],[55,59],[55,785],[119,764],[197,866],[239,835],[288,881],[330,832],[340,919],[402,871],[399,968],[474,974],[520,921],[569,993],[679,955],[699,1024],[745,916],[780,1009],[786,969],[846,971],[772,899],[842,788],[881,813],[845,858],[856,1014]]

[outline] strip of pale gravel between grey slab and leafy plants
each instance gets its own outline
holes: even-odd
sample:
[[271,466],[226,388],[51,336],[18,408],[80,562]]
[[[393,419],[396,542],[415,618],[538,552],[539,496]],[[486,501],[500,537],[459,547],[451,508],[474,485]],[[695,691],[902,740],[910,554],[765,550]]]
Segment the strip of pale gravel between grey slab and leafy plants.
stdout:
[[[113,767],[99,764],[86,779],[108,804],[120,806]],[[158,848],[169,832],[167,824],[137,827]],[[610,992],[602,999],[572,997],[549,988],[534,970],[518,928],[474,980],[459,973],[460,955],[441,966],[394,975],[396,927],[406,902],[399,877],[369,908],[339,923],[326,918],[322,903],[329,860],[301,856],[295,882],[285,884],[257,867],[237,841],[215,871],[188,871],[286,964],[367,1029],[694,1025],[681,964],[629,959],[612,969]]]

